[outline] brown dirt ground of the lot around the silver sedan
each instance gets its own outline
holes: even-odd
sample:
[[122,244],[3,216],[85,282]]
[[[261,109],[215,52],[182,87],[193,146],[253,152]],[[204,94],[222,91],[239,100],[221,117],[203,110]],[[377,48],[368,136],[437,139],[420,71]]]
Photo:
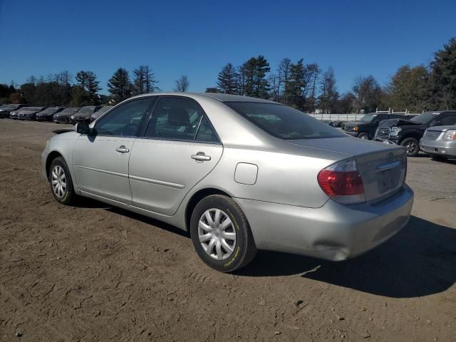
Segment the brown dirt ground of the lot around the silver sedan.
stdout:
[[368,254],[222,274],[166,224],[58,204],[39,174],[58,128],[0,120],[0,341],[456,341],[456,162],[409,159],[413,217]]

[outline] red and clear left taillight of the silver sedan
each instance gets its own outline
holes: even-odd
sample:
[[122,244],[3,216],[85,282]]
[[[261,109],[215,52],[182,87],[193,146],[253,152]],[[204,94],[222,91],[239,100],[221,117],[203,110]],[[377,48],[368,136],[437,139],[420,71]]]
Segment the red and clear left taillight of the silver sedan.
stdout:
[[363,179],[356,170],[353,158],[329,165],[317,176],[318,184],[326,195],[341,204],[366,202]]

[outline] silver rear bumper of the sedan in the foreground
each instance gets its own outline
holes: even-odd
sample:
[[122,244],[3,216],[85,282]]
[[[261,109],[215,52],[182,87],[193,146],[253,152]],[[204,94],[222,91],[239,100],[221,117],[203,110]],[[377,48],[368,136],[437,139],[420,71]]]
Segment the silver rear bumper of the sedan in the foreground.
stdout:
[[330,199],[316,209],[236,200],[249,220],[258,249],[341,261],[363,254],[399,232],[410,219],[413,190],[404,185],[376,204],[342,205]]

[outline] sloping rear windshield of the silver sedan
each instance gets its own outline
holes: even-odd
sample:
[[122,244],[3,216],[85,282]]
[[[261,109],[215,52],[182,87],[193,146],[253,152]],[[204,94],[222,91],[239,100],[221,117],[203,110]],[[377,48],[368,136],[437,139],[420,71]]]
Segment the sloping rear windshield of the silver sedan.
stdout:
[[224,104],[276,138],[294,140],[346,136],[336,128],[286,105],[255,102]]

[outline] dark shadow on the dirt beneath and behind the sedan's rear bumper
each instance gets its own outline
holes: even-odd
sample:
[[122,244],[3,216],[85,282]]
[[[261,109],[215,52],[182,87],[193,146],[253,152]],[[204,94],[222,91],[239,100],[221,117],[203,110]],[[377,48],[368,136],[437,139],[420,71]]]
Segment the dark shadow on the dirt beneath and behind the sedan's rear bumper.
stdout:
[[259,252],[239,276],[301,277],[395,298],[427,296],[456,281],[456,229],[411,217],[404,229],[371,252],[331,262]]

